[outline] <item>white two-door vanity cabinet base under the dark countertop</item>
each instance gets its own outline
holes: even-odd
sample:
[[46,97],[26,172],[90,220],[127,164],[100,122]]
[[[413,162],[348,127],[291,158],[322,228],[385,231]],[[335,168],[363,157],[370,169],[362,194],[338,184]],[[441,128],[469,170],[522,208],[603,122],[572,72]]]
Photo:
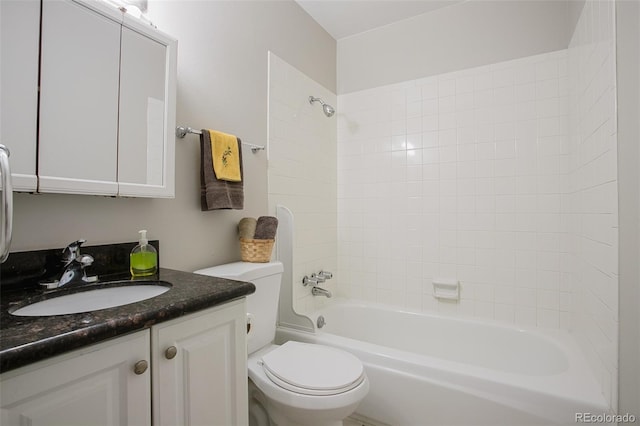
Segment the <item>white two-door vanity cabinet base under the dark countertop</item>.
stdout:
[[246,351],[242,298],[4,373],[0,424],[247,425]]

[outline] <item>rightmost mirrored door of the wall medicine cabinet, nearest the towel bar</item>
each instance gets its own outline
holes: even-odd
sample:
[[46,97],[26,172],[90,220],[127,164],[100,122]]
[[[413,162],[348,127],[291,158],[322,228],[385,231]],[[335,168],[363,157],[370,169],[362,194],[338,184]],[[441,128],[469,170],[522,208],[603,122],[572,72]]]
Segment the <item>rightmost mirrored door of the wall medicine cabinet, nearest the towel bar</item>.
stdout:
[[120,195],[174,196],[175,48],[175,40],[157,31],[122,27]]

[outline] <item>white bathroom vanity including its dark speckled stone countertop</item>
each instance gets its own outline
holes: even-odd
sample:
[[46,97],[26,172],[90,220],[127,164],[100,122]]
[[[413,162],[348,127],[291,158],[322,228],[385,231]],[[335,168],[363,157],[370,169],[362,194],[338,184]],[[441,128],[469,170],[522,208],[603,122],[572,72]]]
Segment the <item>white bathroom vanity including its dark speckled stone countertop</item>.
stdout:
[[[251,283],[160,269],[172,284],[141,302],[18,317],[3,294],[3,425],[247,424],[246,295]],[[31,293],[29,293],[31,292]]]

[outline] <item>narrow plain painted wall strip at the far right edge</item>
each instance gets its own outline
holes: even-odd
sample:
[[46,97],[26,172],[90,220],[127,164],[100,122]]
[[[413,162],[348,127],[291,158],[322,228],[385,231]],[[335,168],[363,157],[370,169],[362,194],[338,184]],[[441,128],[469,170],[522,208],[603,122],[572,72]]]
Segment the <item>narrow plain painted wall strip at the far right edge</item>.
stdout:
[[640,418],[640,3],[616,3],[620,206],[619,413]]

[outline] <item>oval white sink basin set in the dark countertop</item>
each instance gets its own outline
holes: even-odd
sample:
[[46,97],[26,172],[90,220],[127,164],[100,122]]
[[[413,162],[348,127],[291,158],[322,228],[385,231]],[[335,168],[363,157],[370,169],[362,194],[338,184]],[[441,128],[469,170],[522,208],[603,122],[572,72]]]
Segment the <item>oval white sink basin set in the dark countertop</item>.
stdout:
[[23,317],[79,314],[151,299],[169,291],[170,288],[157,284],[98,288],[52,297],[16,309],[11,314]]

